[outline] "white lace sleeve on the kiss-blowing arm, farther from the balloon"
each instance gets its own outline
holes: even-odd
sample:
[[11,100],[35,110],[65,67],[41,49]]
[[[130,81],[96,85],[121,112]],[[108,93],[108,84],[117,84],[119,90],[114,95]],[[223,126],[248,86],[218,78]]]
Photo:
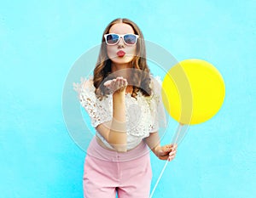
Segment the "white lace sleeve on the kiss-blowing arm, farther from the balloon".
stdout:
[[81,78],[81,83],[73,83],[73,88],[78,93],[80,105],[90,116],[92,127],[112,120],[109,100],[96,98],[95,87],[91,79]]

